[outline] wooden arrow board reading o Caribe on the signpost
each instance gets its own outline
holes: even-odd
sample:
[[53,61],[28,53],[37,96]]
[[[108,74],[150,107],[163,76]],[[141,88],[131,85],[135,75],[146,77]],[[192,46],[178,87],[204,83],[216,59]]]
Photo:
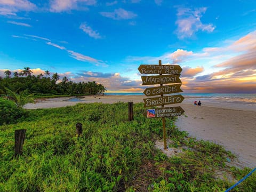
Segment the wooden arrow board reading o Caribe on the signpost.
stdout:
[[180,84],[172,84],[172,85],[165,85],[165,86],[157,86],[157,87],[150,87],[145,89],[143,93],[146,96],[155,96],[155,95],[161,95],[161,94],[170,94],[170,93],[180,93],[183,92],[180,89]]

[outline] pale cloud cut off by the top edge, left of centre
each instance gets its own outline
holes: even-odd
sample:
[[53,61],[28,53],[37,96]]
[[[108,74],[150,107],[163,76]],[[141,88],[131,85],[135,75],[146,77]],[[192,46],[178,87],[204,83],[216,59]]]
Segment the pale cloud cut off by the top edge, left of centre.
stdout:
[[50,11],[87,10],[87,8],[83,6],[95,5],[96,3],[96,0],[52,0],[50,3]]

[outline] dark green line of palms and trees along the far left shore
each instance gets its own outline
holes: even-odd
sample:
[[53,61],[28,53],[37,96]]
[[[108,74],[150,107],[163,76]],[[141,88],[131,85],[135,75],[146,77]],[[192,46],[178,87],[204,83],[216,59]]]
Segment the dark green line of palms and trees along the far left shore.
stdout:
[[53,73],[51,76],[49,70],[35,76],[29,67],[24,67],[19,73],[6,70],[4,74],[5,77],[0,77],[1,94],[6,94],[6,88],[14,92],[27,91],[28,94],[36,95],[95,95],[106,91],[102,84],[95,81],[75,83],[69,81],[66,76],[57,83],[59,74]]

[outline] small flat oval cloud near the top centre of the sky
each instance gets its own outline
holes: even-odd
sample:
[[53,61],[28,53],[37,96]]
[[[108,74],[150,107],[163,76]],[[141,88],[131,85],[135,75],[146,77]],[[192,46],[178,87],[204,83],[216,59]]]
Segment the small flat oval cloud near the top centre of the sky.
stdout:
[[121,20],[121,19],[133,19],[137,17],[137,14],[131,12],[131,11],[126,11],[122,8],[116,9],[114,12],[100,12],[100,14],[103,17],[115,19],[115,20]]

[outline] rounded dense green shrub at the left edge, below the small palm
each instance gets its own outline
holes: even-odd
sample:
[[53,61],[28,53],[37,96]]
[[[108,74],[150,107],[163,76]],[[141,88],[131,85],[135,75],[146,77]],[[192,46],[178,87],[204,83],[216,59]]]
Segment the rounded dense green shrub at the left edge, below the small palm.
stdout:
[[23,115],[24,110],[17,107],[13,101],[0,98],[0,125],[15,123]]

